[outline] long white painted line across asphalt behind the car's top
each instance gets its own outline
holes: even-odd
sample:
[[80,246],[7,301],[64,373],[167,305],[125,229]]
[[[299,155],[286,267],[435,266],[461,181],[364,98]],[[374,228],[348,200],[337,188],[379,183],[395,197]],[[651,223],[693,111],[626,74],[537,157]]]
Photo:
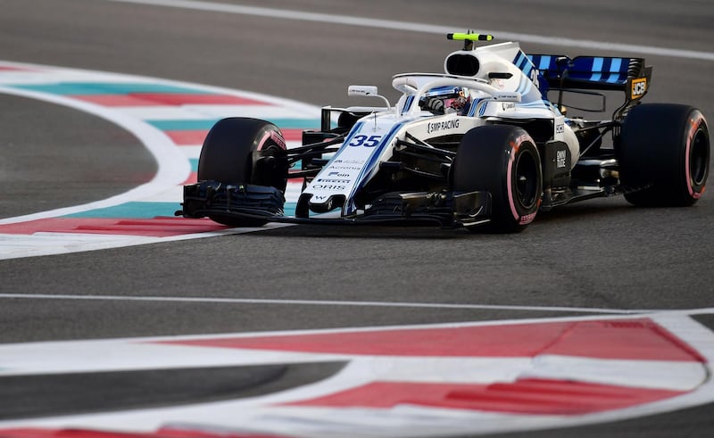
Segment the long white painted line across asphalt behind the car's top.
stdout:
[[[108,0],[112,2],[145,4],[151,6],[165,6],[179,9],[192,9],[203,12],[234,13],[238,15],[252,15],[257,17],[278,18],[281,20],[312,21],[328,24],[341,24],[347,26],[360,26],[363,28],[403,30],[428,34],[447,34],[453,32],[454,26],[439,26],[427,23],[410,21],[378,20],[367,17],[353,17],[349,15],[336,15],[330,13],[290,11],[286,9],[273,9],[239,4],[220,4],[211,2],[198,2],[193,0]],[[564,47],[579,47],[615,52],[635,54],[653,54],[675,58],[689,58],[704,61],[714,61],[714,53],[699,52],[677,48],[656,47],[652,45],[631,45],[610,43],[606,41],[592,41],[565,37],[547,37],[544,35],[522,34],[495,29],[475,29],[477,33],[493,34],[499,39],[514,40],[527,43],[544,45],[557,45]]]

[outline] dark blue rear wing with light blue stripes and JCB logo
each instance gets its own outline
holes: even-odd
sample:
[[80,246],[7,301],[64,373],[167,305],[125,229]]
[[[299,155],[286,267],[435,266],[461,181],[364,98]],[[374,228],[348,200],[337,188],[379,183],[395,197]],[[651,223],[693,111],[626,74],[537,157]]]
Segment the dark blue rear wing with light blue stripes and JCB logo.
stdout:
[[550,88],[625,92],[625,103],[615,112],[615,119],[647,94],[652,80],[652,67],[644,65],[644,58],[577,56],[571,59],[553,54],[529,54],[528,58]]

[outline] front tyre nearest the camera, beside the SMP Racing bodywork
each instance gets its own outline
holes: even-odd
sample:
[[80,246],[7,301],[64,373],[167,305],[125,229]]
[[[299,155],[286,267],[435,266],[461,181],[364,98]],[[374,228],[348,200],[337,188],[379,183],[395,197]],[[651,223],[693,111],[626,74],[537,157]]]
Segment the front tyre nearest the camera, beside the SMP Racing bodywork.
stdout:
[[461,139],[451,184],[455,192],[491,194],[491,222],[486,226],[490,231],[525,229],[535,219],[543,192],[540,155],[533,138],[522,128],[508,125],[471,129]]

